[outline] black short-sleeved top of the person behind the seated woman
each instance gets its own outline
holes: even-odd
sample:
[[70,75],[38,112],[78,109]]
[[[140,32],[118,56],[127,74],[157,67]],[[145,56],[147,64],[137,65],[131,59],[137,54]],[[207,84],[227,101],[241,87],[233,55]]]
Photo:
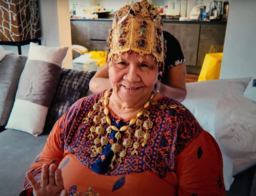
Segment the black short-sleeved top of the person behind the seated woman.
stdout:
[[164,74],[161,79],[163,84],[168,82],[168,70],[185,62],[179,41],[167,31],[163,31],[166,40],[166,59],[164,61]]

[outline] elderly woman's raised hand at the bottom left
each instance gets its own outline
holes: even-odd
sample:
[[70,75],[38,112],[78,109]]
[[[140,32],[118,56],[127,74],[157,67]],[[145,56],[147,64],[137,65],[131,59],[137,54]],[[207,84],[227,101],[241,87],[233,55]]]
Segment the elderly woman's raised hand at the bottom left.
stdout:
[[42,166],[41,186],[29,171],[26,177],[33,187],[34,196],[68,196],[63,185],[61,169],[54,164],[51,164],[49,169],[47,164]]

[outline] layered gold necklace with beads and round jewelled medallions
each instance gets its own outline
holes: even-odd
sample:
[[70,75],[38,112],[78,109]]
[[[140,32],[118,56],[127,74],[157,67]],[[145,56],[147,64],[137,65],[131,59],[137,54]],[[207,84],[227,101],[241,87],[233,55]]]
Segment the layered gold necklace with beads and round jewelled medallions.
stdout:
[[[144,104],[143,109],[137,113],[136,117],[132,118],[129,121],[128,125],[122,126],[120,129],[118,129],[116,126],[111,124],[109,109],[107,107],[109,104],[109,97],[111,93],[112,90],[106,91],[105,97],[102,97],[98,103],[95,103],[93,105],[93,111],[98,110],[98,114],[93,117],[93,111],[88,112],[87,117],[83,118],[83,123],[88,123],[89,119],[93,117],[94,126],[90,128],[90,134],[87,136],[89,140],[93,140],[94,143],[94,145],[91,146],[91,157],[96,157],[101,154],[103,152],[104,146],[110,143],[111,150],[114,152],[114,156],[111,160],[109,168],[114,169],[114,163],[122,162],[122,157],[127,154],[128,148],[133,147],[131,155],[138,155],[137,149],[140,147],[140,145],[145,146],[147,144],[147,140],[150,138],[149,129],[152,128],[153,122],[150,120],[150,112],[147,111],[146,108],[149,106],[150,102],[156,104],[156,101],[152,100],[154,96],[152,93],[148,101]],[[102,118],[99,113],[104,113],[105,116]],[[140,119],[142,116],[146,117],[145,121],[142,121]],[[103,128],[104,124],[108,125],[106,131]],[[136,127],[139,126],[139,128],[137,128],[136,130],[134,130],[135,128],[132,128],[135,127],[135,124]],[[114,139],[109,139],[112,130],[116,131],[116,142],[114,142]],[[122,138],[120,132],[124,131],[128,134],[128,138],[125,138],[123,142],[120,142],[119,140]],[[136,141],[133,141],[131,139],[133,133]],[[122,146],[124,150],[121,150]],[[117,158],[117,156],[119,158]],[[105,158],[105,155],[101,155],[101,160],[104,160]]]

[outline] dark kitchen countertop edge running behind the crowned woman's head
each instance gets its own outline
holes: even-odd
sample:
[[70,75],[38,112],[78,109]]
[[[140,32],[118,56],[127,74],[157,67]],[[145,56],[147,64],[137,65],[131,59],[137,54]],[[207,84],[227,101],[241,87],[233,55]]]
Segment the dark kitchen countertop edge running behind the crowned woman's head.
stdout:
[[[71,18],[70,21],[87,21],[87,22],[112,22],[112,18],[107,19],[77,19],[77,18]],[[227,21],[221,21],[221,20],[211,20],[211,21],[204,21],[204,20],[186,20],[186,21],[180,21],[175,19],[164,19],[164,24],[227,24]]]

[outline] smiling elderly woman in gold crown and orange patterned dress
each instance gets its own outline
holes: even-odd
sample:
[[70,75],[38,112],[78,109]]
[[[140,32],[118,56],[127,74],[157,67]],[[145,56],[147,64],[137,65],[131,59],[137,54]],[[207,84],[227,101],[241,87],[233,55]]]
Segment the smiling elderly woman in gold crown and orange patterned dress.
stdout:
[[215,140],[184,106],[154,91],[162,28],[147,1],[116,13],[112,89],[80,99],[56,122],[21,195],[225,195]]

